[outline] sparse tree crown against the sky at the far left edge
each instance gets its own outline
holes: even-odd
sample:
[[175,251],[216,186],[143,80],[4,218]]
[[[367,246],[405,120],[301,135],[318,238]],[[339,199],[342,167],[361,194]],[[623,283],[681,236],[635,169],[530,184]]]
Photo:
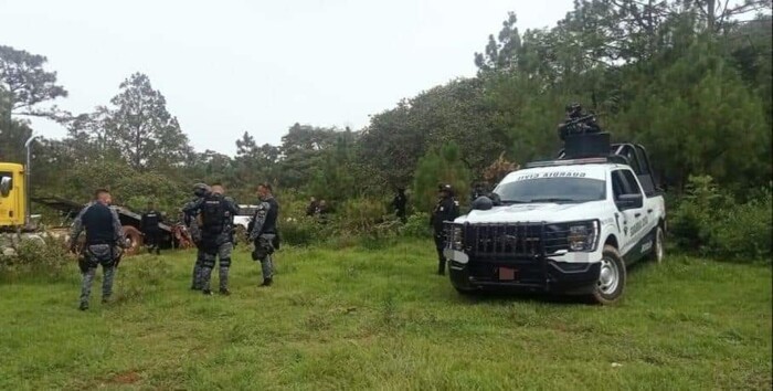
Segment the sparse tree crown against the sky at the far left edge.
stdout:
[[0,45],[0,87],[11,96],[11,112],[17,115],[55,118],[56,107],[40,109],[36,106],[67,92],[56,85],[56,72],[43,68],[47,59],[23,50]]

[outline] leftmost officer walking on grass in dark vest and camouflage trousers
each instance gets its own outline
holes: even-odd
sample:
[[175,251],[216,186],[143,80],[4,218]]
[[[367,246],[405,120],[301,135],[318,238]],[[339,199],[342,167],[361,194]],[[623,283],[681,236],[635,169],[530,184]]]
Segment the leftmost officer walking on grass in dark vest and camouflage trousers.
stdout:
[[102,283],[102,303],[107,303],[113,294],[115,267],[120,260],[120,247],[126,247],[124,229],[118,213],[110,209],[109,191],[98,189],[94,194],[95,201],[84,208],[75,218],[70,232],[70,249],[76,251],[77,239],[86,230],[86,245],[83,249],[78,266],[83,275],[81,285],[81,310],[88,309],[88,298],[92,293],[92,282],[98,265],[102,265],[104,281]]

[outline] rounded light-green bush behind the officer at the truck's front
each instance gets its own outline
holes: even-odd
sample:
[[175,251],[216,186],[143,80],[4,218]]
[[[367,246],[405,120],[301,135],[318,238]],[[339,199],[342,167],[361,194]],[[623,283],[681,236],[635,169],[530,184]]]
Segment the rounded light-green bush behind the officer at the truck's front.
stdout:
[[469,170],[462,161],[459,147],[453,141],[444,145],[440,150],[430,150],[419,161],[413,184],[413,202],[419,211],[432,211],[437,200],[438,183],[451,184],[457,200],[466,203],[469,192]]

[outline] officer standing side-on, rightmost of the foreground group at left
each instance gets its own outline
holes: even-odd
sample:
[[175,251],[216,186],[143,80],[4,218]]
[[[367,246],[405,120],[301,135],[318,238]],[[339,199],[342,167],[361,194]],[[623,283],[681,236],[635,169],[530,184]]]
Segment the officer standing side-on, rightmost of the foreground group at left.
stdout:
[[268,183],[257,186],[257,197],[261,204],[255,211],[255,215],[250,223],[250,240],[255,245],[252,253],[253,261],[261,262],[263,273],[263,284],[271,286],[274,282],[274,265],[272,254],[279,249],[279,232],[276,220],[279,216],[279,203],[274,198],[274,191]]

